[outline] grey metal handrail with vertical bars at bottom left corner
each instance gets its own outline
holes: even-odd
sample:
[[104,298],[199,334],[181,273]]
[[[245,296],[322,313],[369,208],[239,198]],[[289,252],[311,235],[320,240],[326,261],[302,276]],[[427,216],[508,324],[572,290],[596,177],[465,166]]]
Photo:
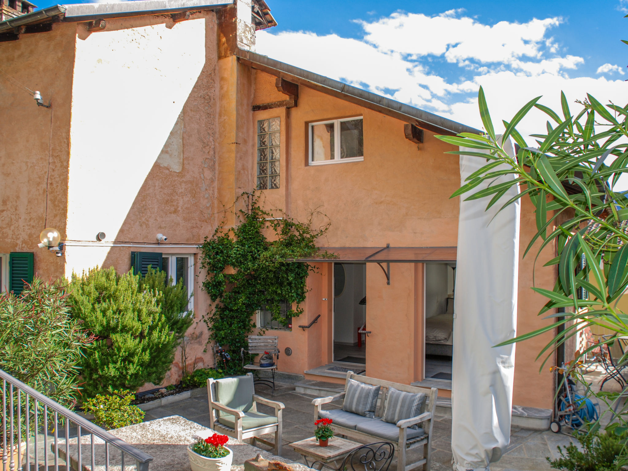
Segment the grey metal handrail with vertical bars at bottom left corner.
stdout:
[[[21,412],[22,412],[22,401],[21,401],[21,393],[24,393],[26,395],[26,411],[24,411],[24,413],[26,414],[30,414],[33,413],[34,417],[35,417],[35,459],[38,460],[39,459],[39,451],[37,448],[37,435],[38,435],[38,404],[37,403],[41,403],[43,404],[43,427],[44,427],[44,432],[45,435],[43,437],[44,439],[44,462],[45,462],[45,468],[48,469],[48,433],[45,430],[46,425],[48,423],[48,411],[49,409],[51,411],[53,411],[54,413],[54,420],[55,420],[55,431],[54,431],[54,443],[51,444],[53,445],[54,451],[55,451],[55,471],[58,471],[58,416],[62,415],[63,417],[65,417],[66,422],[65,422],[65,460],[67,463],[70,462],[70,436],[69,436],[69,429],[68,429],[68,423],[70,421],[72,421],[73,423],[75,423],[75,425],[77,426],[77,465],[78,465],[78,470],[82,471],[82,453],[81,453],[81,435],[82,435],[82,429],[83,430],[87,430],[90,435],[92,435],[92,440],[91,440],[91,468],[92,471],[94,471],[95,469],[95,463],[94,463],[94,435],[101,438],[102,440],[105,441],[105,457],[106,457],[106,464],[105,467],[108,470],[109,469],[109,445],[113,445],[114,447],[116,447],[118,450],[120,450],[120,452],[122,453],[121,455],[121,471],[124,471],[124,453],[127,453],[127,455],[130,455],[131,457],[134,458],[136,465],[137,465],[137,471],[148,471],[148,467],[149,467],[149,463],[151,461],[153,461],[153,457],[151,457],[151,455],[149,455],[148,453],[144,453],[142,450],[138,450],[138,448],[133,447],[133,445],[129,445],[129,443],[126,443],[126,441],[121,440],[120,438],[117,438],[117,436],[112,435],[111,433],[109,433],[108,431],[100,428],[99,426],[95,425],[94,423],[90,422],[89,420],[81,417],[80,415],[78,415],[75,412],[70,411],[70,409],[63,407],[61,404],[57,403],[56,401],[53,401],[53,399],[50,399],[48,397],[46,397],[44,394],[41,394],[38,391],[35,391],[35,389],[33,389],[32,387],[24,384],[23,382],[19,381],[18,379],[14,378],[13,376],[11,376],[10,374],[8,374],[5,371],[0,370],[0,378],[3,380],[2,381],[2,403],[3,403],[3,416],[2,416],[2,432],[3,432],[3,469],[9,469],[9,467],[6,467],[6,462],[9,461],[10,464],[10,470],[14,471],[14,470],[22,470],[22,463],[14,463],[14,453],[10,452],[9,450],[14,450],[14,444],[13,444],[13,438],[14,438],[14,432],[15,432],[15,428],[14,428],[14,408],[15,408],[15,404],[14,404],[14,387],[16,387],[18,389],[18,394],[17,394],[17,415],[18,415],[18,424],[17,424],[17,433],[18,433],[18,443],[17,445],[17,450],[18,450],[18,457],[21,456],[20,455],[20,447],[21,447]],[[7,398],[7,383],[9,384],[9,398]],[[35,399],[35,407],[33,409],[33,411],[30,410],[29,408],[29,396],[33,399]],[[7,399],[9,399],[9,404],[7,404]],[[7,405],[9,405],[9,407],[11,408],[10,410],[10,416],[9,418],[7,417]],[[9,447],[7,446],[7,422],[8,419],[10,421],[9,423]],[[30,441],[30,420],[28,420],[28,417],[26,419],[26,423],[25,423],[25,429],[26,429],[26,469],[30,469],[30,453],[28,453],[28,448],[29,448],[29,441]],[[85,443],[85,445],[87,445],[88,443]],[[52,447],[51,447],[52,448]],[[8,458],[8,455],[10,455],[10,458]],[[37,465],[37,464],[36,464]],[[67,467],[69,468],[69,467]]]

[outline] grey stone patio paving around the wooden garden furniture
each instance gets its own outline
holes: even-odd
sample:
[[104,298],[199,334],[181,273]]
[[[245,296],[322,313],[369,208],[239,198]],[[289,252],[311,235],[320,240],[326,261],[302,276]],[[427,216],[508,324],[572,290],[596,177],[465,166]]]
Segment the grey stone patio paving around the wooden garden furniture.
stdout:
[[[288,446],[294,441],[303,440],[313,436],[313,413],[314,406],[311,400],[315,396],[295,393],[294,386],[282,385],[275,389],[273,396],[269,394],[267,387],[259,387],[257,393],[265,398],[281,401],[286,408],[283,411],[283,457],[293,461],[301,462],[298,453]],[[338,408],[326,404],[328,409]],[[258,405],[258,410],[271,413],[270,408]],[[150,409],[146,412],[144,420],[180,415],[188,420],[209,426],[209,412],[207,408],[207,398],[197,396],[183,401]],[[452,420],[445,417],[437,417],[433,425],[432,438],[432,470],[445,471],[452,469],[451,450],[451,430]],[[269,440],[273,440],[269,436]],[[511,442],[501,460],[491,465],[493,471],[528,471],[528,470],[550,470],[545,457],[557,457],[557,446],[565,446],[571,441],[571,437],[562,433],[552,433],[551,431],[534,431],[513,427],[511,429]],[[421,452],[418,452],[421,453]],[[409,458],[413,454],[409,453]],[[420,458],[420,455],[417,455]],[[396,469],[393,463],[391,470]]]

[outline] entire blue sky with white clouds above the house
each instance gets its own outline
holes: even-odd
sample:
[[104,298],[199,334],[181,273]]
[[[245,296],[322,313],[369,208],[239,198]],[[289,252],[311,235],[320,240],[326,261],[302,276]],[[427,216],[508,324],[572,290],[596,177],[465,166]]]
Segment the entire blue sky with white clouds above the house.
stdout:
[[[560,109],[561,90],[628,102],[628,0],[268,4],[279,26],[257,32],[257,52],[470,126],[480,85],[497,128],[538,95]],[[519,131],[545,121],[533,111]]]

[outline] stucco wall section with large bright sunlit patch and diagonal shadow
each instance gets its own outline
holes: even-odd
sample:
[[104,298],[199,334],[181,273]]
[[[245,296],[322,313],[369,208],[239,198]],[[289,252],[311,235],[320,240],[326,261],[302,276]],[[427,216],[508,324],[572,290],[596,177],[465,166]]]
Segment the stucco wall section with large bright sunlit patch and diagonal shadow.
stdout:
[[[196,13],[173,28],[166,26],[163,18],[118,19],[82,39],[68,232],[76,241],[93,241],[100,230],[107,238],[102,247],[94,247],[97,242],[68,247],[66,270],[80,273],[99,265],[124,273],[131,269],[131,251],[192,254],[195,319],[185,336],[185,357],[183,350],[175,352],[163,382],[171,384],[179,381],[184,363],[190,371],[214,365],[211,350],[203,351],[208,332],[202,317],[210,300],[201,289],[205,274],[198,245],[212,234],[218,219],[215,136],[220,100],[215,14]],[[107,47],[117,50],[110,53]],[[90,74],[104,80],[98,99],[114,102],[123,119],[95,119],[86,112]],[[126,80],[107,80],[116,74]],[[136,86],[141,83],[143,89]],[[94,133],[117,136],[103,144],[99,158],[89,148]],[[83,198],[86,185],[116,190],[91,202]],[[168,241],[158,245],[156,234]]]

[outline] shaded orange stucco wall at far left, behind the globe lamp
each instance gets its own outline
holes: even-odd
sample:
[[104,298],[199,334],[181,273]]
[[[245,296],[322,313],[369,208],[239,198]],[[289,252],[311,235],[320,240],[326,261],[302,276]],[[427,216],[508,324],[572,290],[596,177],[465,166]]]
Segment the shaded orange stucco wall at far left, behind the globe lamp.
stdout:
[[50,109],[38,107],[0,75],[0,253],[33,252],[44,279],[63,273],[63,259],[37,244],[45,225],[65,239],[75,35],[75,24],[55,23],[52,31],[0,43],[4,72],[40,91],[46,104],[52,100]]

